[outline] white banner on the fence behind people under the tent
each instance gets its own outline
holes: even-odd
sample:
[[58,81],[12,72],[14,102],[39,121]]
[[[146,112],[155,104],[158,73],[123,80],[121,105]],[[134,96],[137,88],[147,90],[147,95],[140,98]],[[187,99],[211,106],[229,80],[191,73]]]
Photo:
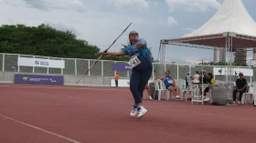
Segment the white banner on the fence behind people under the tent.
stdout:
[[[239,73],[242,72],[243,73],[243,76],[247,76],[247,77],[253,77],[253,70],[250,69],[250,68],[221,68],[221,67],[213,67],[213,74],[214,75],[222,75],[222,76],[225,76],[226,73],[230,73],[230,70],[231,69],[231,75],[233,76],[239,76]],[[221,72],[220,72],[221,71]],[[236,75],[237,74],[237,75]]]

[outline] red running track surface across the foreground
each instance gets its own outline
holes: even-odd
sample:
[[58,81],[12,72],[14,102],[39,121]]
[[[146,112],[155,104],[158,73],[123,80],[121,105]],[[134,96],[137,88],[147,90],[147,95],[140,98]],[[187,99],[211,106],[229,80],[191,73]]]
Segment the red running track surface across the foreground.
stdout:
[[0,84],[3,143],[249,143],[255,107],[144,100],[130,117],[128,88]]

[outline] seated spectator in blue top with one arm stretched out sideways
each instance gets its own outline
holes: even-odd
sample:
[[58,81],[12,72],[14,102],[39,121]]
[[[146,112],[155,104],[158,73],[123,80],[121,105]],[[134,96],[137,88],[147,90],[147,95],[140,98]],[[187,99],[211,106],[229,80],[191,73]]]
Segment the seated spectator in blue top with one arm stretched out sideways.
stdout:
[[178,96],[180,94],[180,89],[176,86],[176,81],[172,77],[170,77],[169,70],[165,71],[165,77],[155,77],[155,79],[157,78],[160,80],[164,80],[166,89],[172,91],[176,99],[180,99],[180,97]]

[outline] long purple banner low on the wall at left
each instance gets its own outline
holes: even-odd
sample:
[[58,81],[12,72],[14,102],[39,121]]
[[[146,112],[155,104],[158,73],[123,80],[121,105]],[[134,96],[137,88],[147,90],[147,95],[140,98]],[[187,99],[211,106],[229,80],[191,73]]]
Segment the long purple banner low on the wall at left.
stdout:
[[64,85],[64,77],[15,74],[15,84]]

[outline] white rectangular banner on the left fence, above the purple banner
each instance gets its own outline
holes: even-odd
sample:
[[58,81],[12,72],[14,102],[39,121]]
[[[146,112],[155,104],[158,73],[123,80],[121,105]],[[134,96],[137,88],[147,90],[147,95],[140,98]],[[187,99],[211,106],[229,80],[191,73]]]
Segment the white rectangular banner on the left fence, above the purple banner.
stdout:
[[18,57],[17,58],[17,66],[65,68],[65,61],[64,60],[43,59],[43,58]]

